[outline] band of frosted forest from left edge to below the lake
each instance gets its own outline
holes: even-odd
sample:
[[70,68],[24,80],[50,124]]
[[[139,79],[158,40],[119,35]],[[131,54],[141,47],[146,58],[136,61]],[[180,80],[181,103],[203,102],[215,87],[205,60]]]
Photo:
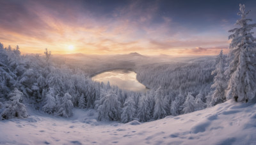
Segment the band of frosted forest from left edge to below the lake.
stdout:
[[83,71],[53,64],[47,50],[42,56],[20,55],[19,46],[12,49],[1,44],[0,55],[2,120],[28,117],[24,104],[63,117],[72,116],[73,107],[93,108],[99,111],[99,120],[124,123],[188,112],[184,110],[186,93],[177,95],[161,87],[147,93],[127,92],[109,83],[93,82]]

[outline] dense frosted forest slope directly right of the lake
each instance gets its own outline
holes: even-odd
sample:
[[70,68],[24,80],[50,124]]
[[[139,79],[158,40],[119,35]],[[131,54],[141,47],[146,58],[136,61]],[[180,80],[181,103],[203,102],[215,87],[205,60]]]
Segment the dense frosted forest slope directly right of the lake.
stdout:
[[211,72],[215,61],[173,62],[172,64],[150,64],[136,69],[137,79],[148,88],[161,88],[167,92],[185,94],[199,92],[207,95],[211,91]]

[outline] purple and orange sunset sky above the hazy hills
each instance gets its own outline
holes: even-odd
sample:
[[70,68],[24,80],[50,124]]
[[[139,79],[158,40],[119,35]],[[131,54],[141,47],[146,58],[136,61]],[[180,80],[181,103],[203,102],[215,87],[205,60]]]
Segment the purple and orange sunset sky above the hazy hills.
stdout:
[[255,0],[0,0],[0,42],[22,53],[218,55],[239,3],[256,20]]

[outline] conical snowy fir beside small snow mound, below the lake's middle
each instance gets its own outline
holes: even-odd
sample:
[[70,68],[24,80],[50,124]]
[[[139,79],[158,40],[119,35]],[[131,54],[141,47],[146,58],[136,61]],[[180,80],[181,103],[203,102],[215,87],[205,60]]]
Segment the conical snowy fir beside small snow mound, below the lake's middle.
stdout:
[[122,109],[121,121],[122,123],[127,123],[134,120],[135,116],[135,102],[131,97],[127,98],[124,103],[124,108]]

